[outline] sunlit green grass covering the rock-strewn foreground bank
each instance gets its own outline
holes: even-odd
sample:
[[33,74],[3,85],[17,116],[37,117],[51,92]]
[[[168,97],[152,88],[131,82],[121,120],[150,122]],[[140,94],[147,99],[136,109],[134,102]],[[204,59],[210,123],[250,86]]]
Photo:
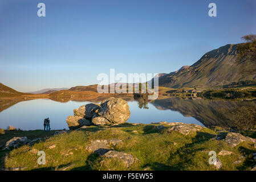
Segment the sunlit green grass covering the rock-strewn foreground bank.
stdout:
[[[217,156],[223,163],[221,170],[250,170],[255,163],[251,156],[256,152],[253,143],[243,142],[231,148],[224,141],[213,139],[216,131],[204,128],[197,133],[182,135],[177,131],[169,133],[169,126],[163,125],[165,128],[162,130],[156,129],[157,124],[135,126],[125,123],[70,131],[46,138],[33,146],[25,145],[5,152],[4,167],[24,170],[217,170],[208,163],[208,152],[216,151],[218,154],[221,150],[233,152],[231,155]],[[24,131],[19,135],[29,138],[42,132]],[[254,134],[250,135],[255,137]],[[113,150],[131,154],[135,158],[131,167],[127,168],[117,159],[104,159],[86,149],[91,140],[114,138],[123,142],[112,146]],[[48,148],[51,145],[56,147]],[[31,152],[33,148],[46,153],[46,164],[37,163],[39,156]],[[233,164],[241,155],[246,156],[242,162]]]

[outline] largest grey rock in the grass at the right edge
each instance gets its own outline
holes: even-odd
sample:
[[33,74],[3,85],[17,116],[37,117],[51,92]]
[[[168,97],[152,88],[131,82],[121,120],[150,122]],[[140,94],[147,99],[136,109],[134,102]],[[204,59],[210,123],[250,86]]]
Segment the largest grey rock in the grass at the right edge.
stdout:
[[255,142],[255,139],[250,137],[244,137],[239,133],[228,133],[224,139],[224,142],[229,144],[231,147],[237,146],[241,142]]

